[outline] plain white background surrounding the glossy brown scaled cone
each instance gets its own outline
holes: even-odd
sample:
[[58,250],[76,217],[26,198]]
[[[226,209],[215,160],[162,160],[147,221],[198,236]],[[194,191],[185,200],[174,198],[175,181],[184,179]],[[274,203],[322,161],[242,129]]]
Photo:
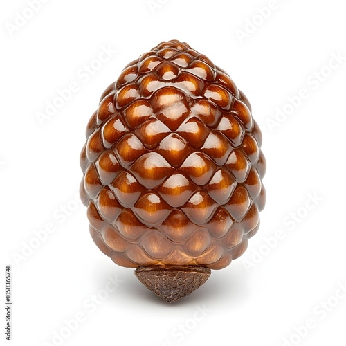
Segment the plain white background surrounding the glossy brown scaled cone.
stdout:
[[[2,1],[0,10],[1,264],[3,272],[12,265],[12,345],[345,345],[342,1],[51,0],[28,8]],[[175,304],[98,250],[76,197],[84,130],[102,91],[169,39],[228,71],[252,104],[268,162],[262,226],[248,250]],[[116,53],[98,64],[102,46]],[[86,73],[90,64],[98,71]],[[37,113],[71,82],[78,90],[40,123]],[[286,112],[280,122],[278,109]]]

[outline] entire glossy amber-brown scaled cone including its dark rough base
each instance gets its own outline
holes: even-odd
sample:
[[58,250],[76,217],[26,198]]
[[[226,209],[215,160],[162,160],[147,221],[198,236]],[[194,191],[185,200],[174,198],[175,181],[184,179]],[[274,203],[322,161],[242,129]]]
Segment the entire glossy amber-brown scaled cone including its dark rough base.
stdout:
[[246,250],[266,192],[248,99],[177,40],[128,64],[86,129],[80,185],[100,250],[167,302]]

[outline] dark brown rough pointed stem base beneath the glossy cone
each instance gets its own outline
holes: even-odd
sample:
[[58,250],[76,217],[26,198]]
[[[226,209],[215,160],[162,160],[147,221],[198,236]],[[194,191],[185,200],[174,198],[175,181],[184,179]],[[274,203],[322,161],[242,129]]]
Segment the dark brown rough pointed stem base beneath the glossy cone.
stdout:
[[175,302],[204,284],[211,271],[203,266],[139,266],[134,273],[158,297]]

